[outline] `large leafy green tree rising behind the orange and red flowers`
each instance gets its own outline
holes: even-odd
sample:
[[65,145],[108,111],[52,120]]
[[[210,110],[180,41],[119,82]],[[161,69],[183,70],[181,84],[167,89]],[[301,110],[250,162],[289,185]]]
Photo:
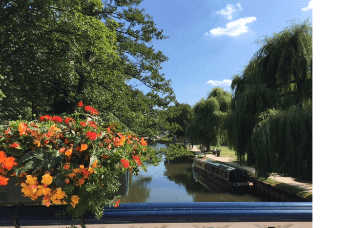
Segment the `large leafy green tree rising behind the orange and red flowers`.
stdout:
[[159,73],[167,58],[152,46],[166,37],[140,2],[1,1],[0,117],[72,113],[83,101],[153,134],[175,97]]

